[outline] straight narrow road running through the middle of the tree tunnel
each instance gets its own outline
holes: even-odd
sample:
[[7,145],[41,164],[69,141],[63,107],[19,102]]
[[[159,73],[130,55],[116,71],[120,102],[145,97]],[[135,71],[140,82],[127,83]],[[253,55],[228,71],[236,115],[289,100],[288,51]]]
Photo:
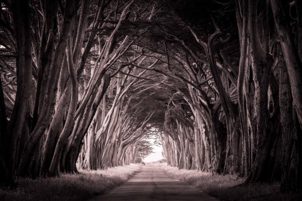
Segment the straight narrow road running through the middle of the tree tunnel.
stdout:
[[157,165],[142,166],[121,186],[108,193],[94,197],[90,201],[151,201],[151,200],[187,200],[187,201],[218,201],[200,191],[200,189],[185,184],[165,173]]

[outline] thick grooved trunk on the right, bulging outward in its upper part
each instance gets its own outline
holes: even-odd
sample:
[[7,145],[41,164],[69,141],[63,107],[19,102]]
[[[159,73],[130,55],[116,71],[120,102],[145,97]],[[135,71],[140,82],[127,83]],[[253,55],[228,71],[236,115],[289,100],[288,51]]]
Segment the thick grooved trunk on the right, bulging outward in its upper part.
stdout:
[[267,158],[269,157],[269,146],[271,137],[269,136],[269,113],[268,86],[271,73],[272,58],[264,47],[260,44],[257,28],[257,1],[249,2],[249,32],[252,48],[252,69],[255,82],[255,116],[256,116],[256,137],[257,152],[255,160],[247,178],[248,182],[265,182],[267,179]]

